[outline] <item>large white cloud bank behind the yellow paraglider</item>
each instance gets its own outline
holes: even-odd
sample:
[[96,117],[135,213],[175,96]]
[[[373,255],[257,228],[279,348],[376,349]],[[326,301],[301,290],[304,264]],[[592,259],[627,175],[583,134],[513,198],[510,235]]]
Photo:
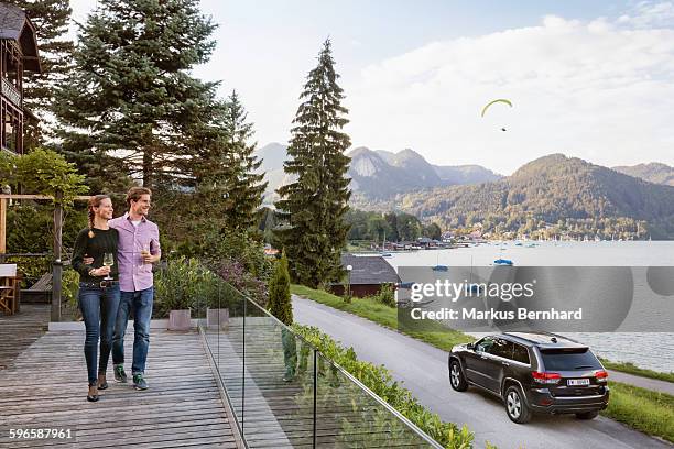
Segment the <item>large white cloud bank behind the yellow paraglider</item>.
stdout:
[[[547,15],[536,26],[428,43],[345,85],[347,130],[356,145],[410,146],[435,163],[503,173],[552,152],[674,165],[667,17],[672,3],[641,2],[616,20]],[[494,98],[514,107],[480,119]]]

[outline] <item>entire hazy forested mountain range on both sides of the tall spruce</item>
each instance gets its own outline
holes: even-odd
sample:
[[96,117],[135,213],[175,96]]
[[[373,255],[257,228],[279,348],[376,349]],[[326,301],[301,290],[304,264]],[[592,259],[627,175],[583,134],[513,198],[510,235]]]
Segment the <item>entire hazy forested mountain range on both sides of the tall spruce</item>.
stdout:
[[[283,173],[286,147],[269,144],[258,155],[271,202],[271,193],[290,182]],[[348,155],[356,208],[398,209],[445,229],[479,225],[515,233],[555,228],[604,238],[674,238],[674,167],[665,164],[608,168],[552,154],[501,176],[479,165],[433,165],[409,149],[361,146]]]

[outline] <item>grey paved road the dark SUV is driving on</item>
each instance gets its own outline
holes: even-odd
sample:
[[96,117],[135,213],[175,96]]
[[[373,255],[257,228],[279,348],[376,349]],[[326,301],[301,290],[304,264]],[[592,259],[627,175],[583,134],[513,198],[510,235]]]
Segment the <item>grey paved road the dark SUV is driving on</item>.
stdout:
[[430,344],[385,329],[360,317],[293,295],[296,322],[319,327],[354,350],[361,360],[384,364],[395,380],[444,420],[467,424],[475,431],[475,447],[488,440],[499,449],[627,449],[670,448],[617,421],[597,417],[580,421],[573,415],[535,416],[526,425],[508,419],[502,404],[471,387],[457,393],[447,379],[447,353]]

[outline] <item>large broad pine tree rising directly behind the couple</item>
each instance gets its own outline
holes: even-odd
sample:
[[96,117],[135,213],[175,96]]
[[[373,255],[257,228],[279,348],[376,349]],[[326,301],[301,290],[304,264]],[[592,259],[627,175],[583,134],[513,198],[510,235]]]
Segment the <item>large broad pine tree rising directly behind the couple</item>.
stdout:
[[215,26],[198,0],[100,0],[80,29],[76,69],[58,95],[66,154],[89,175],[116,179],[104,169],[115,167],[115,157],[148,187],[180,182],[177,164],[195,151],[185,135],[215,101],[217,83],[189,75],[208,61]]

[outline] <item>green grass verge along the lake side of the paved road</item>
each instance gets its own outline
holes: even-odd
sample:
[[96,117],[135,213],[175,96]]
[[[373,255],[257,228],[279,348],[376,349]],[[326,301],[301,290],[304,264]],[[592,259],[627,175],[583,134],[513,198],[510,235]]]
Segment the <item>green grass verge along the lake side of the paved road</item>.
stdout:
[[[295,284],[291,285],[291,292],[326,306],[358,315],[391,329],[396,329],[398,327],[396,309],[371,299],[352,298],[351,303],[345,303],[343,298],[330,293]],[[475,338],[466,333],[447,329],[439,324],[431,322],[427,329],[423,332],[405,333],[445,351],[449,351],[455,344],[475,340]],[[637,368],[631,363],[616,363],[608,360],[601,360],[601,362],[610,370],[668,382],[674,381],[674,373],[659,373]],[[601,412],[602,415],[624,423],[644,434],[674,442],[673,396],[619,382],[610,382],[609,384],[611,387],[611,398],[608,408]]]

